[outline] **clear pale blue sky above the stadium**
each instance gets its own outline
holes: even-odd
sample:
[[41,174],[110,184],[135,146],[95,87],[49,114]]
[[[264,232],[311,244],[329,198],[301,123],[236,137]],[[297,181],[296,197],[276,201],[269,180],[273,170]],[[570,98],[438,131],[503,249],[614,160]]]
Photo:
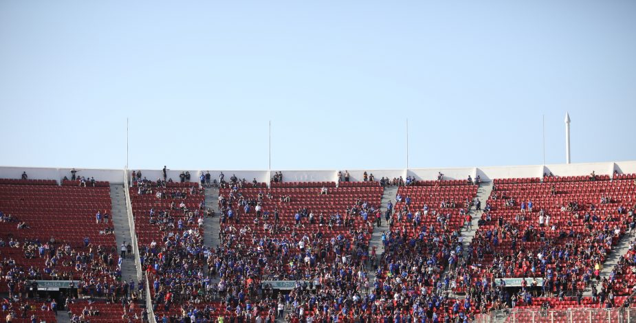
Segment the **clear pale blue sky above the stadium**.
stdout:
[[636,1],[0,1],[0,164],[636,159]]

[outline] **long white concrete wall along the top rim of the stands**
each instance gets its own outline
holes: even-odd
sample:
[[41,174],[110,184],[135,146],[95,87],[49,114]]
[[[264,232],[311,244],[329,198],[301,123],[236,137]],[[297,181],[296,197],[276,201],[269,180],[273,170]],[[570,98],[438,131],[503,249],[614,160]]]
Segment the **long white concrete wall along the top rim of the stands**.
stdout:
[[[466,179],[468,175],[475,177],[480,175],[485,181],[499,178],[527,178],[541,177],[543,172],[552,172],[556,176],[582,176],[589,175],[592,170],[597,175],[611,175],[613,170],[620,173],[633,174],[636,173],[636,161],[609,161],[602,163],[583,163],[583,164],[553,164],[553,165],[531,165],[531,166],[485,166],[485,167],[466,167],[466,168],[421,168],[421,169],[397,169],[397,170],[366,170],[369,174],[373,173],[375,179],[380,180],[382,177],[404,177],[414,176],[419,180],[437,179],[437,172],[442,172],[445,179]],[[65,176],[71,177],[71,168],[37,168],[37,167],[12,167],[0,166],[0,178],[21,178],[22,172],[26,171],[30,179],[55,179],[61,181]],[[78,175],[84,177],[95,177],[97,181],[110,181],[111,183],[123,182],[122,169],[91,169],[76,168]],[[131,169],[132,170],[132,169]],[[129,172],[131,171],[129,170]],[[137,169],[135,169],[137,170]],[[163,177],[161,169],[149,170],[142,169],[142,177],[150,180],[156,180]],[[179,181],[179,174],[186,170],[168,170],[168,178],[173,181]],[[190,172],[190,181],[199,181],[200,172],[206,170],[188,170]],[[210,170],[212,179],[219,179],[221,170]],[[274,174],[275,170],[272,170]],[[282,170],[283,181],[337,181],[338,170]],[[364,170],[349,170],[351,181],[362,181],[362,173]],[[342,170],[344,174],[344,170]],[[229,180],[232,174],[251,182],[256,181],[267,183],[270,181],[270,172],[268,170],[223,170],[226,180]]]

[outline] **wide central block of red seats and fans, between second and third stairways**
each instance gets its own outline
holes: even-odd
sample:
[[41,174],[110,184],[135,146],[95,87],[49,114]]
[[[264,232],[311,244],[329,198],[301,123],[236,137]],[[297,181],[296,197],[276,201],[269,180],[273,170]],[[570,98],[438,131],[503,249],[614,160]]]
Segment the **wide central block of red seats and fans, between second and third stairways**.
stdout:
[[[321,194],[323,188],[328,194]],[[221,253],[212,262],[219,284],[241,290],[248,279],[245,293],[261,300],[267,310],[263,316],[270,320],[285,308],[303,311],[303,318],[353,315],[359,309],[354,303],[371,284],[367,266],[376,255],[369,240],[381,198],[377,182],[338,188],[333,182],[289,183],[270,189],[230,183],[219,195]],[[237,266],[246,276],[237,275]],[[299,283],[291,293],[272,298],[263,280]]]

